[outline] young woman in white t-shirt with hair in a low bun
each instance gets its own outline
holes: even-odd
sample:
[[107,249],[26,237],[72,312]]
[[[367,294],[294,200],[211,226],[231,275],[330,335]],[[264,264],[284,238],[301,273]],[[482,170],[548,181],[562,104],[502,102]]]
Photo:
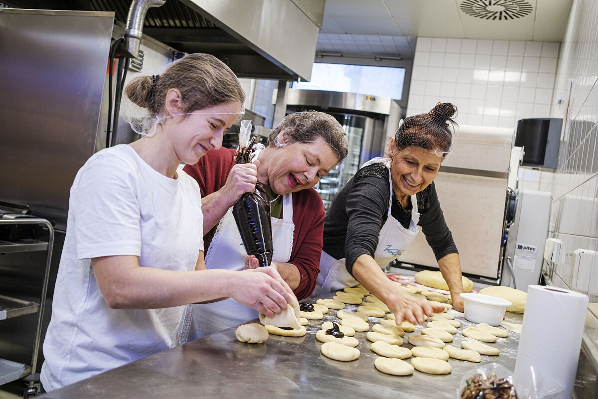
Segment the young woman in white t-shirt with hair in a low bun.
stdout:
[[178,169],[221,147],[242,114],[233,72],[190,54],[136,78],[126,95],[145,111],[133,129],[148,134],[94,154],[71,187],[44,342],[46,391],[177,345],[185,304],[231,297],[273,316],[293,296],[273,267],[206,270],[199,186]]

